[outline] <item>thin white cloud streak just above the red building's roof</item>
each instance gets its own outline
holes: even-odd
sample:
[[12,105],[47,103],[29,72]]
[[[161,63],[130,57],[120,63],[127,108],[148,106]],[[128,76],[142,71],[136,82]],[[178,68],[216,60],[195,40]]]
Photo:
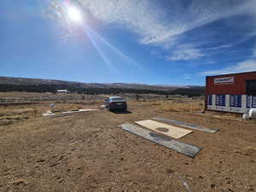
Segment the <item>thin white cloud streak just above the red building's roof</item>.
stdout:
[[215,74],[226,74],[226,73],[242,73],[256,71],[256,60],[241,61],[234,66],[225,67],[218,70],[206,71],[200,73],[201,75],[215,75]]

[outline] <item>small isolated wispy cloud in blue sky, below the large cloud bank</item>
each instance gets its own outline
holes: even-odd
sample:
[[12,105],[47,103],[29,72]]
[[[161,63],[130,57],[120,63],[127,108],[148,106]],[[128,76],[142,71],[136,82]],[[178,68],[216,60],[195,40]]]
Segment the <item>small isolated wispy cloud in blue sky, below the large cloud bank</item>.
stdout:
[[183,48],[183,49],[176,49],[172,51],[172,55],[166,56],[167,61],[189,61],[199,59],[200,57],[204,56],[201,53],[201,49],[195,48]]

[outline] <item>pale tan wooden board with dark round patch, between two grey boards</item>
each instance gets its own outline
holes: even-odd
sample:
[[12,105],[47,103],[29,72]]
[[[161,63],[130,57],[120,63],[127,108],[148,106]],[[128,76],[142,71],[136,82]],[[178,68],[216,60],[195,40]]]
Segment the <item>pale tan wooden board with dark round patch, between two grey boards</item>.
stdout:
[[164,134],[172,138],[181,138],[181,137],[184,137],[185,135],[188,135],[190,132],[193,132],[190,130],[179,128],[177,126],[167,125],[167,124],[163,124],[163,123],[160,123],[154,120],[149,120],[149,119],[137,121],[135,123],[137,125],[142,125],[149,130],[159,132],[161,134]]

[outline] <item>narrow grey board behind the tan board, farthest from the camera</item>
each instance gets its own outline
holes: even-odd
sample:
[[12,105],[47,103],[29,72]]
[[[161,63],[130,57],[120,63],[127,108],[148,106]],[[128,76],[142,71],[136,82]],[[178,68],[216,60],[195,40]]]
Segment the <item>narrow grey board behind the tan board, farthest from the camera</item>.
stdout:
[[183,127],[193,129],[193,130],[207,131],[207,132],[210,132],[210,133],[218,132],[217,129],[209,129],[209,128],[202,127],[202,126],[199,126],[199,125],[193,125],[193,124],[189,124],[189,123],[185,123],[185,122],[178,121],[178,120],[173,120],[173,119],[165,119],[165,118],[158,118],[158,117],[154,117],[152,119],[159,120],[159,121],[164,122],[164,123],[169,123],[169,124],[174,124],[174,125],[181,125]]

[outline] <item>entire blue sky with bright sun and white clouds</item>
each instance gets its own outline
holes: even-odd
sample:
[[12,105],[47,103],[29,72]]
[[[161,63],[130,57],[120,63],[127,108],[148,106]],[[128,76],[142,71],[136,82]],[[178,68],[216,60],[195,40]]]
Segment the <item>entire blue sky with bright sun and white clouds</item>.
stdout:
[[205,84],[256,70],[256,0],[1,0],[0,76]]

